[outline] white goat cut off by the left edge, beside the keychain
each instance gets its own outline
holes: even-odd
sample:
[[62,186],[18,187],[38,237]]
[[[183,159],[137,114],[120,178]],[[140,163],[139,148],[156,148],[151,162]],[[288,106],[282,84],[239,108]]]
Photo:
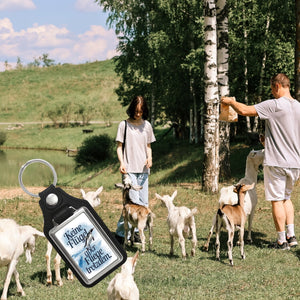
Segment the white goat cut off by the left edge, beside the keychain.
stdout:
[[24,249],[26,249],[26,262],[31,263],[31,254],[35,250],[35,239],[38,236],[44,237],[44,234],[29,225],[21,226],[14,220],[0,219],[0,267],[7,266],[1,300],[7,299],[12,274],[15,276],[18,293],[25,296],[16,267]]

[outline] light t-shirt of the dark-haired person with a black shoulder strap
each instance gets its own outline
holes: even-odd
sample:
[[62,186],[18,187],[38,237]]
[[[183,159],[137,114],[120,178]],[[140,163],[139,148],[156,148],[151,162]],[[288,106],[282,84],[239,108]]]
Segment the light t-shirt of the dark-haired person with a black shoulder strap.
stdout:
[[[125,122],[119,124],[116,141],[124,142]],[[144,121],[141,125],[127,122],[124,163],[128,173],[148,173],[145,163],[147,160],[147,145],[155,142],[151,124]]]

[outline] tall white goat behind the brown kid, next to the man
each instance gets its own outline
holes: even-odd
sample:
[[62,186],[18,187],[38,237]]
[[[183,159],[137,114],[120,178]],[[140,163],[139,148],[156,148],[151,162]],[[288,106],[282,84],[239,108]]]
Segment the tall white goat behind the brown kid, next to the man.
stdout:
[[[239,183],[244,184],[252,184],[254,183],[255,186],[257,184],[257,173],[259,166],[263,163],[265,157],[264,150],[252,150],[247,156],[246,159],[246,169],[245,169],[245,177],[240,179]],[[234,186],[231,185],[229,187],[223,187],[220,190],[220,197],[219,197],[219,206],[222,207],[224,204],[231,204],[234,205],[238,202],[237,194],[234,193]],[[245,195],[245,204],[244,204],[244,211],[246,216],[248,216],[248,235],[247,241],[252,243],[252,221],[254,217],[255,207],[257,204],[257,194],[256,194],[256,187],[249,190]],[[213,228],[212,228],[213,229]]]

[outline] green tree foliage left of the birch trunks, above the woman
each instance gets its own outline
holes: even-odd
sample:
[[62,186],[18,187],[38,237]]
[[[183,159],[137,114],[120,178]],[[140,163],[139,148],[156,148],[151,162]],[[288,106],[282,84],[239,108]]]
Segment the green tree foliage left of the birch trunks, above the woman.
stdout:
[[204,61],[199,1],[97,2],[110,12],[108,22],[116,32],[122,33],[121,55],[116,58],[119,100],[127,105],[142,94],[155,107],[157,118],[185,127],[193,99],[200,107],[203,98],[203,69],[197,67]]

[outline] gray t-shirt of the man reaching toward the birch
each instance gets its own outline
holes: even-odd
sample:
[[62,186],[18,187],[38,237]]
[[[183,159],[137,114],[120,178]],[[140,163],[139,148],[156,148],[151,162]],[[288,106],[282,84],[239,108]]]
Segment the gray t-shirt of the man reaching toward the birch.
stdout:
[[281,97],[254,107],[265,120],[264,165],[300,168],[300,102]]

